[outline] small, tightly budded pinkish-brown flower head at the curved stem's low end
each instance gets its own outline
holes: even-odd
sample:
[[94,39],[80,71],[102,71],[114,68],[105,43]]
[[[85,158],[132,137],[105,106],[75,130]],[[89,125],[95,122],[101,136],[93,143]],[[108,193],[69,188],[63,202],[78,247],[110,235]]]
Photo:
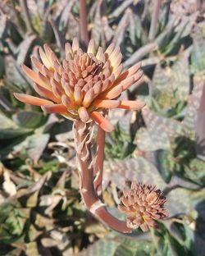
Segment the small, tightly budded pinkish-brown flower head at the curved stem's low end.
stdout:
[[168,217],[164,203],[166,198],[155,186],[132,182],[130,190],[123,190],[118,209],[127,215],[128,227],[148,231],[149,226],[157,226],[155,220]]

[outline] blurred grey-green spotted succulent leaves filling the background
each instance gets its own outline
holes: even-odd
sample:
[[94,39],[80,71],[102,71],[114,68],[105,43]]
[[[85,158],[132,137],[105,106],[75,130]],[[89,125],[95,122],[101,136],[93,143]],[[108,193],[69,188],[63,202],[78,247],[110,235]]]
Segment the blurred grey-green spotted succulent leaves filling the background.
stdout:
[[146,233],[120,235],[80,202],[71,121],[46,116],[12,93],[34,94],[21,63],[37,45],[64,57],[80,38],[79,1],[0,2],[0,255],[205,254],[205,7],[196,0],[87,1],[90,37],[142,61],[142,112],[113,110],[103,199],[116,211],[126,182],[162,189],[170,217]]

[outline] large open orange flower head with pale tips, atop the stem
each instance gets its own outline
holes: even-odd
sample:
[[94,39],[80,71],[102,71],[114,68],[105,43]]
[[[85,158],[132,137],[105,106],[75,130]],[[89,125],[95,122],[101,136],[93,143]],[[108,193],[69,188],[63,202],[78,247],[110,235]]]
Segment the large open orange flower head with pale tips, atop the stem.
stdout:
[[95,54],[90,40],[87,53],[79,47],[77,39],[72,46],[66,43],[66,59],[60,63],[47,44],[39,48],[39,56],[31,57],[37,72],[23,65],[25,74],[34,81],[34,90],[43,98],[14,94],[23,103],[42,107],[44,112],[59,113],[71,120],[95,121],[103,130],[113,130],[103,117],[104,108],[138,110],[141,101],[119,100],[130,85],[142,80],[143,71],[136,64],[122,72],[120,48],[112,43],[105,52],[99,47]]

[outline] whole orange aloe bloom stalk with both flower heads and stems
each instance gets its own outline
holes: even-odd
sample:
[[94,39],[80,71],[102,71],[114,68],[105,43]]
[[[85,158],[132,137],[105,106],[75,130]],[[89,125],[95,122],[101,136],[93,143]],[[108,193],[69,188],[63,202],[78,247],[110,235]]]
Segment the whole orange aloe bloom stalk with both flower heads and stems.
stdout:
[[[119,209],[128,213],[128,221],[121,222],[101,200],[103,180],[103,152],[105,132],[114,127],[107,119],[112,108],[139,110],[144,103],[121,99],[121,94],[134,83],[141,83],[143,71],[140,64],[122,71],[122,54],[112,43],[104,52],[96,51],[90,40],[84,52],[77,39],[66,43],[66,58],[59,62],[47,44],[39,47],[39,58],[31,57],[36,69],[23,65],[25,74],[34,81],[34,90],[43,98],[27,94],[14,94],[23,103],[42,107],[44,112],[58,113],[74,123],[75,146],[79,163],[80,193],[86,207],[112,229],[130,232],[132,228],[155,226],[154,219],[167,217],[160,190],[148,185],[134,185],[122,198]],[[96,153],[92,153],[94,126],[98,126]],[[130,217],[131,214],[131,217]],[[139,219],[140,218],[140,219]]]

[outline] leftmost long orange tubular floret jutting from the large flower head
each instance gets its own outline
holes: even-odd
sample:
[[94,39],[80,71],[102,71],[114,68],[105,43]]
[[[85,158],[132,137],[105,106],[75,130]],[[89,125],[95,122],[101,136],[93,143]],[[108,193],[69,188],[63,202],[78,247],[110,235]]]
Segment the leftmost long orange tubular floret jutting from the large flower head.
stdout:
[[53,104],[51,101],[43,98],[34,97],[27,94],[16,94],[14,93],[15,98],[20,100],[22,103],[27,103],[34,106],[43,106],[48,104]]

